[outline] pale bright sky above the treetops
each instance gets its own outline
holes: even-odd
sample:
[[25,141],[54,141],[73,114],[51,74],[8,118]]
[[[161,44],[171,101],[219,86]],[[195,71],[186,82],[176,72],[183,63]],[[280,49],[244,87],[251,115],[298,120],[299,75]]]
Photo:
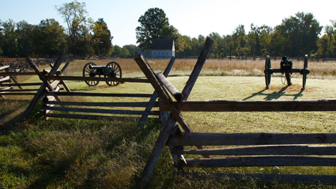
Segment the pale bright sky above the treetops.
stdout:
[[[69,3],[66,0],[0,0],[0,20],[11,18],[29,24],[39,24],[46,18],[55,18],[66,26],[55,5]],[[275,27],[284,18],[297,12],[313,13],[320,26],[331,25],[336,20],[334,0],[84,0],[89,16],[97,21],[103,18],[111,31],[113,45],[136,44],[135,28],[139,17],[149,8],[164,10],[169,24],[182,35],[207,36],[211,32],[232,34],[238,25],[244,25],[246,32],[251,23],[257,26]],[[322,32],[323,34],[323,32]]]

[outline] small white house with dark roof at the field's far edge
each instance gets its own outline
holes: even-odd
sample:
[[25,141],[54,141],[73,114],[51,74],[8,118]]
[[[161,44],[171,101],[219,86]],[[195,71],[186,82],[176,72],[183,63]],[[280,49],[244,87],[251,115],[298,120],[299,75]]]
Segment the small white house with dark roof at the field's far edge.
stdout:
[[174,39],[153,39],[152,58],[170,58],[175,56]]

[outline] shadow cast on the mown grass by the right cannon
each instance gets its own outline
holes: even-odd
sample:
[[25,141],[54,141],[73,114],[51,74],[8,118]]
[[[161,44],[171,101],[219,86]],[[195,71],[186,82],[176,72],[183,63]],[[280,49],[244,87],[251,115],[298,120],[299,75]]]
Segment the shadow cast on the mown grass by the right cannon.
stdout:
[[278,91],[274,91],[272,93],[265,93],[265,91],[267,91],[267,89],[262,89],[258,92],[252,93],[251,96],[246,97],[245,99],[243,99],[243,101],[246,101],[246,100],[251,99],[251,98],[256,97],[256,96],[265,96],[264,100],[266,100],[266,101],[279,99],[282,96],[290,96],[290,97],[293,97],[293,100],[296,100],[297,98],[302,96],[302,92],[304,90],[300,90],[296,94],[288,94],[288,93],[286,93],[286,89],[288,87],[289,86],[284,86],[284,87],[280,88]]

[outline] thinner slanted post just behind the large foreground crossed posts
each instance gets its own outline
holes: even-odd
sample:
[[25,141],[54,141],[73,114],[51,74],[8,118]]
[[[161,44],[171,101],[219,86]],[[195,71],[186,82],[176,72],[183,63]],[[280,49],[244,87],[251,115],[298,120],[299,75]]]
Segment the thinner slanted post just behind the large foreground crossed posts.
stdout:
[[[175,59],[176,59],[176,58],[175,58],[174,56],[171,57],[171,59],[170,59],[168,65],[167,65],[165,71],[163,72],[163,75],[164,75],[164,76],[166,76],[166,77],[168,76],[168,74],[169,74],[171,68],[173,67],[173,64],[174,64],[174,62],[175,62]],[[142,126],[144,125],[144,123],[145,123],[145,121],[146,121],[146,119],[147,119],[147,117],[148,117],[148,114],[149,114],[149,112],[152,110],[152,108],[153,108],[153,106],[154,106],[154,103],[155,103],[155,101],[156,101],[156,99],[157,99],[158,97],[159,97],[158,92],[156,92],[156,91],[154,90],[153,95],[152,95],[151,99],[149,100],[149,103],[148,103],[148,105],[147,105],[145,111],[143,112],[143,114],[142,114],[140,120],[139,120],[139,123],[138,123],[138,127],[139,127],[139,128],[142,127]],[[164,125],[164,124],[162,124],[162,125]]]

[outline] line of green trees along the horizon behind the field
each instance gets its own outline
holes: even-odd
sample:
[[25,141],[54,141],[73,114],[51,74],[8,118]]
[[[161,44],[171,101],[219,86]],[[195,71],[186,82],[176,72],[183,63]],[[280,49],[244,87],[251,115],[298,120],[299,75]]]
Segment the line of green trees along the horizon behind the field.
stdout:
[[[115,56],[132,58],[138,49],[150,50],[152,39],[173,38],[177,57],[198,56],[206,36],[197,38],[181,35],[169,24],[165,12],[160,8],[150,8],[140,15],[136,27],[138,46],[134,44],[112,45],[113,36],[103,18],[93,21],[88,16],[85,3],[73,1],[55,6],[64,18],[66,27],[55,19],[41,20],[38,25],[26,21],[15,23],[9,19],[0,20],[0,55],[6,57],[53,57],[63,49],[71,56]],[[284,18],[280,25],[250,25],[247,33],[244,25],[238,25],[229,35],[211,32],[213,45],[210,58],[232,56],[282,56],[291,57],[309,54],[317,58],[335,58],[336,22],[324,27],[312,13],[298,12]]]

